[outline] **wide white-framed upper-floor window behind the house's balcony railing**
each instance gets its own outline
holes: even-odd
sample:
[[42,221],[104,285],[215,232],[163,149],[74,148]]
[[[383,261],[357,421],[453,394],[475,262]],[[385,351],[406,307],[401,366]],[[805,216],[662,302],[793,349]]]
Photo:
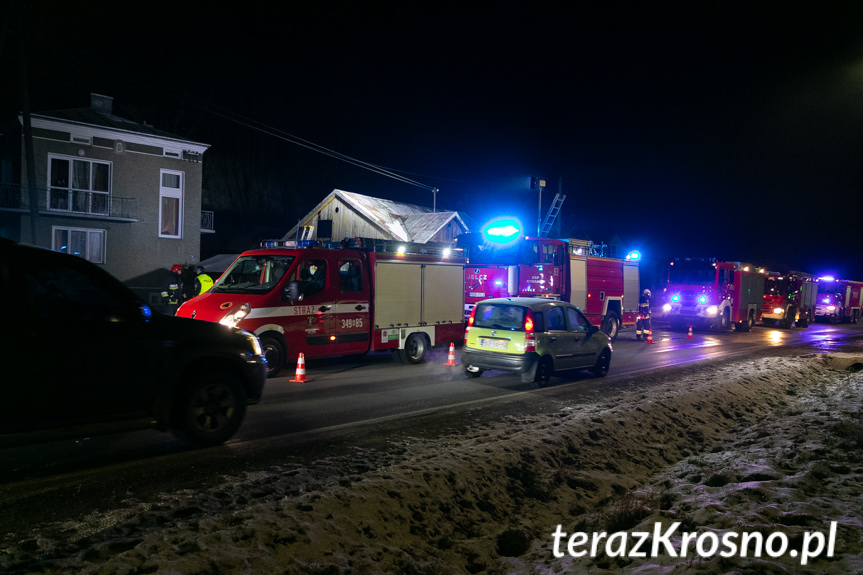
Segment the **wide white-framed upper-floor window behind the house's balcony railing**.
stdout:
[[110,163],[49,156],[49,210],[107,216],[110,199]]

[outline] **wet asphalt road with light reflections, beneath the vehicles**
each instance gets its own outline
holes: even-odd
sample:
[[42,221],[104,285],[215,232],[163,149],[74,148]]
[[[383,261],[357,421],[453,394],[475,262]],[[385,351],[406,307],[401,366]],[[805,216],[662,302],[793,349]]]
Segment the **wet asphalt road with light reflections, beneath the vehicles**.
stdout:
[[[434,438],[507,414],[547,413],[573,402],[716,362],[856,348],[863,324],[750,333],[702,333],[692,338],[655,326],[654,343],[624,331],[614,344],[607,377],[563,374],[537,389],[502,372],[468,379],[447,366],[447,349],[427,362],[401,365],[388,354],[361,359],[310,361],[305,383],[292,370],[267,382],[264,398],[249,409],[227,444],[191,450],[158,431],[107,435],[0,450],[0,517],[6,533],[45,521],[61,521],[134,498],[147,500],[172,489],[212,485],[223,475],[266,470],[286,462],[388,449],[405,437]],[[459,353],[456,350],[458,361]]]

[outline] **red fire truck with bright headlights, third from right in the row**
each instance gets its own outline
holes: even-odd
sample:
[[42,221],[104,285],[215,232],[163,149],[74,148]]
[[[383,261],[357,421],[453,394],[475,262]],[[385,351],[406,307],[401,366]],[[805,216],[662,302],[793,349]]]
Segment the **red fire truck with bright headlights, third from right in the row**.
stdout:
[[678,258],[668,267],[662,316],[672,329],[749,331],[761,317],[764,270],[740,262]]

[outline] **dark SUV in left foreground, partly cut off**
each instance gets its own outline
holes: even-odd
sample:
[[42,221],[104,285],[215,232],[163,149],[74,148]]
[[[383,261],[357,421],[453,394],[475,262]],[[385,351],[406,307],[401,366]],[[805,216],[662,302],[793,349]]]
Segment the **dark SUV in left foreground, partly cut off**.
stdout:
[[0,238],[0,446],[155,427],[217,445],[260,401],[246,331],[153,312],[77,256]]

